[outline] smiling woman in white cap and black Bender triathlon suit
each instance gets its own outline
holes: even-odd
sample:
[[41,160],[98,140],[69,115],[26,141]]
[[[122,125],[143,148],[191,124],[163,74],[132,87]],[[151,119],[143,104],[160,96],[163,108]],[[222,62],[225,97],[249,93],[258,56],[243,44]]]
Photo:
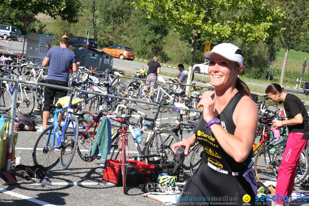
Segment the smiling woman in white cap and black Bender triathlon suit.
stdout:
[[258,110],[248,86],[238,78],[243,70],[242,53],[235,45],[223,43],[203,57],[209,59],[208,74],[215,90],[200,97],[197,108],[202,106],[203,112],[195,134],[171,147],[174,152],[184,147],[188,154],[198,141],[204,153],[177,205],[254,205],[257,187],[251,156]]

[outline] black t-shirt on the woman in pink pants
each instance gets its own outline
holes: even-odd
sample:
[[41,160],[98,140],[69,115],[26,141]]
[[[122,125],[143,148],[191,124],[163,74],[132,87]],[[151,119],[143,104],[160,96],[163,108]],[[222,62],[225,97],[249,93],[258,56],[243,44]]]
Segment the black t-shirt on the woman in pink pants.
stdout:
[[304,104],[302,103],[302,100],[300,100],[295,95],[287,94],[283,104],[286,111],[286,116],[289,120],[293,119],[293,116],[298,114],[302,114],[303,116],[303,123],[296,125],[288,125],[289,132],[309,132],[309,116]]

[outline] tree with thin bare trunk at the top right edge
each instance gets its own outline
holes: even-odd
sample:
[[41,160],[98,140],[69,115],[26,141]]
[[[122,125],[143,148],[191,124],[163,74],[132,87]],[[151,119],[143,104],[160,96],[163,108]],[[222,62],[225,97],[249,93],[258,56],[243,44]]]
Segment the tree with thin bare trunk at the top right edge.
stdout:
[[282,30],[279,35],[279,40],[286,50],[280,76],[280,84],[283,85],[290,49],[309,37],[309,2],[307,0],[273,0],[271,3],[274,6],[280,6],[285,11],[285,18],[282,20]]

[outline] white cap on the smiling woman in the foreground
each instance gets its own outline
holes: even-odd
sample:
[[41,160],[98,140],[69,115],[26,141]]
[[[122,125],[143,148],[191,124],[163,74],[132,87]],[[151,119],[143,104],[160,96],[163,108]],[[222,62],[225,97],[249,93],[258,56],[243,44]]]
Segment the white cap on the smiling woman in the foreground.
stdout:
[[231,43],[222,43],[214,46],[210,52],[203,54],[205,59],[209,59],[212,53],[221,55],[222,57],[237,62],[239,65],[243,65],[243,53],[241,50]]

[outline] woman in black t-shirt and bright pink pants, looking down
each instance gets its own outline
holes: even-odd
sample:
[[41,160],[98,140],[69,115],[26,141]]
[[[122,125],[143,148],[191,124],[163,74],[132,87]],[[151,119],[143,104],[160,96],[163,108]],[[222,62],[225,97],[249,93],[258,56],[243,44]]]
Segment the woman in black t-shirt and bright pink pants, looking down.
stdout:
[[[284,205],[284,196],[290,196],[293,192],[296,167],[301,152],[307,144],[309,138],[309,116],[306,108],[297,96],[287,94],[284,89],[276,83],[270,84],[266,90],[266,95],[270,101],[275,103],[283,102],[286,111],[287,120],[273,120],[273,127],[288,126],[289,137],[286,142],[285,153],[283,154],[282,162],[279,166],[275,204]],[[278,197],[281,197],[277,199]]]

